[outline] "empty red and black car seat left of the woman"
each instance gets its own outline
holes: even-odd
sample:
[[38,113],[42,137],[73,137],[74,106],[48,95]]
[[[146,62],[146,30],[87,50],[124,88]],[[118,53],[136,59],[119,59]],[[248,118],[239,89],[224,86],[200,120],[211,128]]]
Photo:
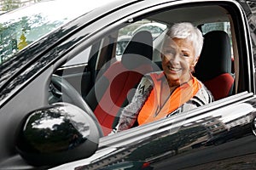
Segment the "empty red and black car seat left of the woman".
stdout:
[[153,71],[153,38],[149,31],[139,31],[128,42],[120,61],[110,65],[86,96],[102,126],[104,135],[113,129],[120,109],[128,104],[127,96],[134,92],[143,75]]

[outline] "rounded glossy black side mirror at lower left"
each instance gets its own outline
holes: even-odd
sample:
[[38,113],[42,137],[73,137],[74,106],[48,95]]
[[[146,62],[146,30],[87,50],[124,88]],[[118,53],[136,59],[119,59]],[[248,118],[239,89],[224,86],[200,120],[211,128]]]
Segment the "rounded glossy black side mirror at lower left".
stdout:
[[33,166],[56,166],[93,155],[100,132],[79,107],[56,103],[30,112],[20,122],[16,150]]

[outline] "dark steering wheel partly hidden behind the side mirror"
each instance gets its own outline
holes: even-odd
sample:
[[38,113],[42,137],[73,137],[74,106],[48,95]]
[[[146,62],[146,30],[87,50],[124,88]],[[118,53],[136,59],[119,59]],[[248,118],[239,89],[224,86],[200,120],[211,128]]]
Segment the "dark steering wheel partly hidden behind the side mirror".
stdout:
[[[73,88],[73,86],[67,82],[64,78],[61,78],[55,74],[51,76],[51,87],[50,91],[53,95],[61,98],[62,101],[72,103],[73,105],[78,106],[80,109],[84,110],[88,115],[90,115],[97,124],[100,135],[103,136],[102,128],[99,126],[99,122],[96,119],[93,111],[90,110],[89,105],[87,105],[79,94],[79,92]],[[63,100],[65,99],[65,100]]]

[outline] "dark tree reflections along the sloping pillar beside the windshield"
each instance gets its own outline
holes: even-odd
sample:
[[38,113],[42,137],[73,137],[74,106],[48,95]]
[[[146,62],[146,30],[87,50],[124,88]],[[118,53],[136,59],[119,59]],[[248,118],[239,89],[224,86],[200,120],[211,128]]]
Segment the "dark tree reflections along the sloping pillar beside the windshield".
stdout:
[[[63,41],[63,37],[69,35],[74,31],[78,26],[68,26],[61,27],[57,31],[49,34],[49,36],[44,37],[38,43],[33,44],[29,50],[21,50],[20,53],[12,56],[4,64],[0,65],[1,77],[0,85],[6,82],[9,77],[14,75],[17,71],[20,71],[20,67],[26,64],[26,71],[23,71],[23,74],[15,76],[11,79],[3,90],[0,91],[0,99],[5,98],[7,95],[11,94],[16,86],[19,86],[21,83],[26,82],[34,75],[44,69],[46,65],[52,62],[54,59],[57,59],[61,54],[66,53],[73,44],[79,42],[86,35],[77,37],[71,37],[67,42],[62,42],[61,45],[55,44],[56,42]],[[54,46],[55,47],[52,47]],[[51,47],[51,48],[50,48]],[[47,54],[39,55],[45,52],[48,49],[51,51]]]

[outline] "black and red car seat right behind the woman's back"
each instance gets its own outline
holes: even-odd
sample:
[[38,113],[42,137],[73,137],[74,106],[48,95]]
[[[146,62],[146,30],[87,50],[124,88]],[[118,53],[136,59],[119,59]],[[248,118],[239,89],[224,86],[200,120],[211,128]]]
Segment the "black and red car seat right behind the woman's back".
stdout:
[[210,31],[204,36],[200,59],[195,65],[195,77],[212,92],[215,100],[232,93],[230,37],[225,31]]

